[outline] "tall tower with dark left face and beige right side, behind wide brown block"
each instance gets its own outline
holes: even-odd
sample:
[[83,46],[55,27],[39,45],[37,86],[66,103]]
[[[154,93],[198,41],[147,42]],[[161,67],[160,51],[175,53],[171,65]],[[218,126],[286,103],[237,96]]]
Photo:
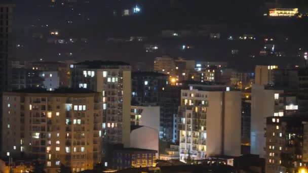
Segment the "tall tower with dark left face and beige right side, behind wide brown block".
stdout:
[[102,93],[104,143],[129,147],[131,66],[117,61],[84,61],[70,68],[72,88]]

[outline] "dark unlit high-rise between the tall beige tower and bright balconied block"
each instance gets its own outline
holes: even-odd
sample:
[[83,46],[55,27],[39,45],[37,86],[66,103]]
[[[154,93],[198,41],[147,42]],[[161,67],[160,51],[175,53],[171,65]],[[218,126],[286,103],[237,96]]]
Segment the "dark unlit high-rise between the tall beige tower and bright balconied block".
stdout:
[[176,117],[180,88],[171,86],[169,76],[156,72],[134,72],[132,74],[132,104],[134,106],[160,107],[160,139],[175,141]]

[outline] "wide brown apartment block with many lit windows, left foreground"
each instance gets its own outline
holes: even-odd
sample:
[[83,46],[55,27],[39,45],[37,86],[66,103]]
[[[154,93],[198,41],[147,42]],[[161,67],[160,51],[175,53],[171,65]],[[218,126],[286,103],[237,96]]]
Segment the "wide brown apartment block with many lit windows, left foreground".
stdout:
[[60,164],[72,171],[101,161],[101,94],[84,89],[24,89],[3,94],[3,157],[45,161],[49,172]]

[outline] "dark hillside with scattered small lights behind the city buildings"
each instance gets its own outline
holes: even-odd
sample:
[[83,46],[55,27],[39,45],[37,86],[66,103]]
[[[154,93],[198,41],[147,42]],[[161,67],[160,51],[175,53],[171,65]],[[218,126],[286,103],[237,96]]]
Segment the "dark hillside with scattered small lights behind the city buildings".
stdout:
[[[75,3],[56,0],[11,0],[5,3],[16,4],[14,13],[14,41],[19,60],[59,61],[59,60],[121,60],[134,65],[146,62],[150,67],[153,58],[168,55],[202,61],[227,61],[231,67],[243,71],[253,71],[256,64],[300,64],[297,57],[307,50],[308,38],[304,28],[307,19],[268,19],[263,17],[268,4],[275,1],[116,1],[116,0],[76,0]],[[63,4],[62,4],[63,3]],[[303,0],[278,1],[283,8],[299,8],[307,12]],[[139,14],[122,16],[124,9],[138,6]],[[208,37],[165,39],[161,31],[181,30],[200,25],[224,25],[219,32],[219,40]],[[57,39],[87,39],[67,44],[51,44],[54,38],[51,31],[59,31]],[[229,35],[254,34],[254,41],[227,41]],[[141,42],[106,42],[109,37],[129,39],[130,36],[146,36]],[[277,50],[285,57],[260,57],[264,37],[273,37]],[[287,37],[288,41],[283,38]],[[146,53],[145,44],[159,45],[155,53]],[[18,45],[18,46],[17,46]],[[181,50],[182,45],[193,49]],[[239,50],[232,55],[233,49]],[[254,56],[254,58],[251,58]]]

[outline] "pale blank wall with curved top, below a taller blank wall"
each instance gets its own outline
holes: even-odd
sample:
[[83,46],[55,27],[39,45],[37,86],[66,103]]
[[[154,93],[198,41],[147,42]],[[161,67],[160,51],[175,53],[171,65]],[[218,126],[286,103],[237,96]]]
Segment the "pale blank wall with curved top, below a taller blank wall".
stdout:
[[[134,129],[130,134],[130,147],[159,152],[159,131],[147,126]],[[156,154],[156,158],[159,158],[158,156],[159,153]]]

